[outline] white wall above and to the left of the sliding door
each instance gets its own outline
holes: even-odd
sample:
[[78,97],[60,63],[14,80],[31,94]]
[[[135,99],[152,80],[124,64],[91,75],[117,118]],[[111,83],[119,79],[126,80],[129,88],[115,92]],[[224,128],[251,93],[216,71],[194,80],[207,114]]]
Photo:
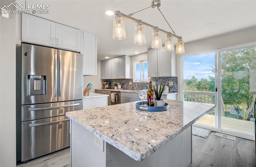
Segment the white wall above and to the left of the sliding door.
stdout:
[[[255,41],[256,41],[256,26],[225,33],[222,35],[208,37],[205,39],[200,39],[197,41],[192,41],[189,43],[185,43],[184,45],[185,45],[186,53],[193,53],[198,51],[218,49],[222,47],[228,47],[228,46],[250,43]],[[180,76],[180,59],[181,59],[180,55],[176,55],[177,76]],[[181,80],[182,79],[178,77],[178,83],[181,83]],[[180,97],[181,91],[182,91],[181,85],[179,84],[177,100],[182,100]]]

